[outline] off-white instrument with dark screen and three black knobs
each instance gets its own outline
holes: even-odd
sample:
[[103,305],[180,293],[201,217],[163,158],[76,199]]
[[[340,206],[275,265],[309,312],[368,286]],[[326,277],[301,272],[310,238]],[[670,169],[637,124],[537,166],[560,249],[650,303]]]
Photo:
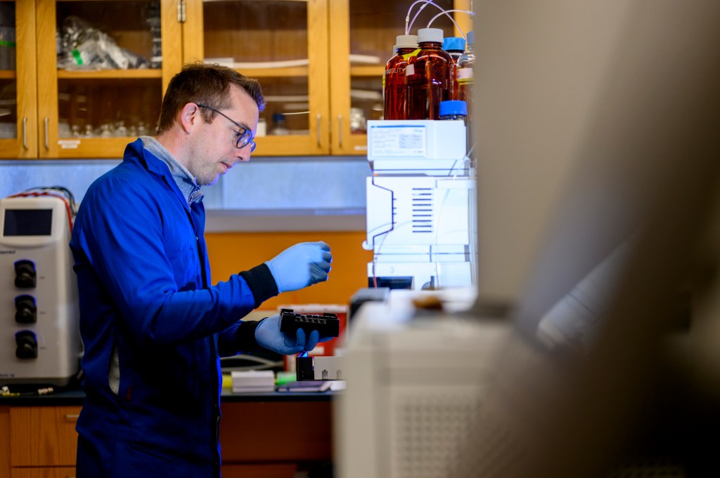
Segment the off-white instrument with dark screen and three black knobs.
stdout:
[[0,385],[67,385],[82,345],[70,242],[56,196],[0,199]]

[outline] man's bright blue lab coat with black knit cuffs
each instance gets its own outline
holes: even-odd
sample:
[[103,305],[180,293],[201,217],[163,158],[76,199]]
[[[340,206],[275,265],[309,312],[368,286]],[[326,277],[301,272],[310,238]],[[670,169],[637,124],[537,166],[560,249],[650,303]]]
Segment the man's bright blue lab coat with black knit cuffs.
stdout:
[[239,319],[278,291],[266,265],[211,286],[204,221],[140,139],[81,203],[78,478],[220,476],[219,356],[258,349]]

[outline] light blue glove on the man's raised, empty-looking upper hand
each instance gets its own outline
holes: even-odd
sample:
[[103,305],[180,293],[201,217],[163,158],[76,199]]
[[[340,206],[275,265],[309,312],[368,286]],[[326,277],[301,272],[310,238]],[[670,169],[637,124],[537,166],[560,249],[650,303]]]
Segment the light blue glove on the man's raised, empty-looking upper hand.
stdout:
[[265,262],[275,278],[277,290],[288,292],[325,282],[330,272],[330,246],[325,242],[301,242]]

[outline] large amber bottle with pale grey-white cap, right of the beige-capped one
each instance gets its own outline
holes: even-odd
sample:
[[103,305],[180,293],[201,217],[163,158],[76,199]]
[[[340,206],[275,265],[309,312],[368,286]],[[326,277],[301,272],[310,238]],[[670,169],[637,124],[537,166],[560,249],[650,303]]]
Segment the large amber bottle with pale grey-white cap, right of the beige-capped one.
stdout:
[[418,30],[417,55],[410,56],[405,75],[408,79],[408,119],[438,119],[440,102],[451,99],[453,60],[443,50],[443,31]]

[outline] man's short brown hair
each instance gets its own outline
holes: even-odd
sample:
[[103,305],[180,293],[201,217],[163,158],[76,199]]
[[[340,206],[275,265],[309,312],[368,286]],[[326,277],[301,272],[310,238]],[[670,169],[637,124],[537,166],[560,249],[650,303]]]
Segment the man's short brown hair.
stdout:
[[[175,116],[188,103],[202,103],[215,109],[229,108],[231,85],[245,90],[258,104],[259,111],[265,109],[265,99],[257,80],[215,63],[184,65],[168,84],[158,119],[158,134],[173,126]],[[203,109],[202,115],[209,123],[215,117],[215,111]]]

